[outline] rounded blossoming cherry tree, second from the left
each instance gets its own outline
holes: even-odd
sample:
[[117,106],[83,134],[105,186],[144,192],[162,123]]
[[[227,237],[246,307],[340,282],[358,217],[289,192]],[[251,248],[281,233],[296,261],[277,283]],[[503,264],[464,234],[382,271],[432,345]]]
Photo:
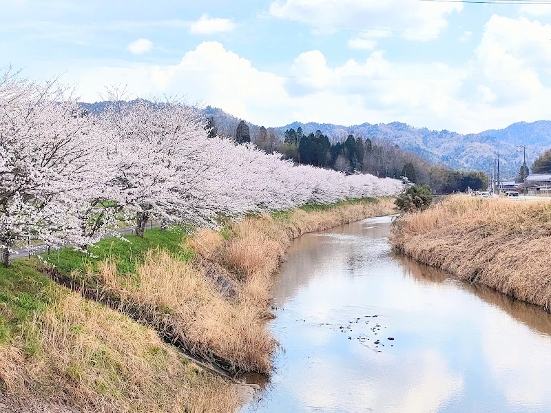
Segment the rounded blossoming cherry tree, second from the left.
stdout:
[[101,115],[109,142],[109,199],[136,213],[136,234],[143,236],[147,220],[205,224],[216,215],[214,199],[223,187],[216,173],[227,157],[220,138],[209,138],[207,121],[198,109],[178,100],[150,102],[121,99]]

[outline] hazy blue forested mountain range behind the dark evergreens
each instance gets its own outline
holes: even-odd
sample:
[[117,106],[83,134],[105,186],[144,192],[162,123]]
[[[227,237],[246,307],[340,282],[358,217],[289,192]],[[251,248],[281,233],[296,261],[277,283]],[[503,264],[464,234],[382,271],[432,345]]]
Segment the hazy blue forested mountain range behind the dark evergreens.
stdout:
[[[83,106],[92,113],[98,113],[105,107],[105,102],[83,103]],[[214,119],[220,134],[233,136],[241,120],[216,107],[207,106],[202,112]],[[248,124],[251,139],[254,140],[260,125]],[[296,130],[298,127],[302,127],[305,134],[320,130],[333,142],[344,141],[349,134],[388,142],[406,151],[417,153],[430,162],[443,163],[454,169],[477,169],[491,173],[499,153],[502,176],[507,178],[515,176],[522,165],[523,153],[518,148],[519,145],[526,145],[528,165],[531,165],[545,149],[551,147],[551,121],[548,120],[514,123],[505,129],[492,129],[479,134],[433,131],[399,122],[362,123],[352,126],[294,122],[282,127],[269,128],[269,131],[282,138],[287,129]]]

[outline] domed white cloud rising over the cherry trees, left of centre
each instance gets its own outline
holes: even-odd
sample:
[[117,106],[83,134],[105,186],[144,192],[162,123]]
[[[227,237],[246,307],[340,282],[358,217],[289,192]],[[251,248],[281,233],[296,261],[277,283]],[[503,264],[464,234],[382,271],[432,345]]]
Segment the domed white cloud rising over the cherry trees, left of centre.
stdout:
[[137,96],[178,94],[191,103],[222,107],[235,116],[266,125],[283,120],[284,105],[289,101],[284,78],[260,72],[216,41],[200,43],[176,65],[98,67],[74,80],[79,81],[83,100],[97,100],[106,84],[120,83]]

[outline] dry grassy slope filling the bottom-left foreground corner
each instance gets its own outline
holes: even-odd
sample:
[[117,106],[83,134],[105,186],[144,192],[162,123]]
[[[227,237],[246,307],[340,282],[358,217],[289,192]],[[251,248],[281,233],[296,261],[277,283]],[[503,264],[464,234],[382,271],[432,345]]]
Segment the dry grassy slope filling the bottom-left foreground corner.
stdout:
[[[31,353],[23,350],[29,344]],[[236,386],[188,363],[154,330],[76,294],[37,313],[19,341],[0,346],[0,385],[13,411],[34,411],[29,405],[182,413],[238,407]]]

